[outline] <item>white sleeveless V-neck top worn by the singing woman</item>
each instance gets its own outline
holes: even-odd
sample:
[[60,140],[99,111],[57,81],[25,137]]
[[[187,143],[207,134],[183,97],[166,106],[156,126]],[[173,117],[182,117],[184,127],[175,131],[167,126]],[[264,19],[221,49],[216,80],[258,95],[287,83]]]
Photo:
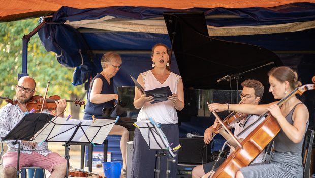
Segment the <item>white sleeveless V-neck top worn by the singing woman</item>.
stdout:
[[[144,90],[152,90],[155,88],[169,86],[172,93],[177,94],[177,84],[181,76],[171,72],[169,77],[162,84],[157,81],[151,70],[141,73],[141,76],[144,82]],[[145,102],[138,114],[137,121],[149,117],[153,118],[156,122],[161,124],[178,123],[176,109],[173,102],[170,100],[154,104],[151,104],[150,102]]]

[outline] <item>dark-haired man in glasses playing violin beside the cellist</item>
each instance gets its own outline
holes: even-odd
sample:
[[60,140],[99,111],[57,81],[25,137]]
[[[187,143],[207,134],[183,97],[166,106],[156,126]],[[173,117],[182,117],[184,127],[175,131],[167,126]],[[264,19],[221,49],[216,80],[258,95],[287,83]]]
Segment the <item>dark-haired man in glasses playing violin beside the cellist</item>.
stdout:
[[[261,82],[257,80],[245,80],[242,82],[242,93],[241,93],[241,102],[240,104],[258,104],[261,100],[263,93],[264,93],[264,86]],[[228,104],[226,104],[228,107]],[[243,128],[244,125],[250,125],[251,123],[255,122],[257,120],[258,116],[252,115],[248,116],[248,118],[242,118],[238,123],[234,123],[228,126],[228,128],[235,128],[234,130],[234,136],[238,135]],[[257,126],[256,124],[255,126]],[[213,138],[213,131],[217,129],[217,132],[221,134],[226,140],[228,140],[228,143],[232,147],[237,147],[237,143],[231,139],[231,136],[224,130],[223,127],[218,128],[218,121],[217,119],[214,121],[214,124],[206,129],[204,133],[204,142],[206,144],[209,144]],[[215,128],[215,129],[214,129]],[[255,127],[249,129],[244,134],[242,134],[240,137],[236,137],[240,142],[246,138],[246,136],[254,130]],[[230,153],[233,151],[233,149],[230,150]],[[261,163],[263,159],[263,153],[261,153],[254,161],[253,163]],[[225,159],[220,159],[216,164],[214,171],[224,162]],[[196,166],[192,171],[192,177],[209,177],[211,173],[211,169],[214,165],[215,161]],[[214,171],[212,172],[212,175],[214,174]]]

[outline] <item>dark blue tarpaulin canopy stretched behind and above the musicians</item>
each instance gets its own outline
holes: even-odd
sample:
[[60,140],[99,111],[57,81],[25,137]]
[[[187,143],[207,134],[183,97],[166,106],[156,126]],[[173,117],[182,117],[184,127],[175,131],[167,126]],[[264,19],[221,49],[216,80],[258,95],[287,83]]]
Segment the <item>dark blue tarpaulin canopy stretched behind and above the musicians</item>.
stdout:
[[[116,51],[121,54],[123,65],[114,78],[115,86],[134,86],[129,74],[137,77],[150,69],[151,47],[160,42],[171,47],[162,16],[163,12],[171,11],[203,11],[209,36],[258,45],[275,52],[284,65],[298,71],[304,84],[310,83],[315,74],[315,3],[292,3],[270,8],[184,10],[129,6],[62,7],[52,17],[42,19],[47,25],[38,34],[46,50],[55,52],[62,65],[76,68],[73,85],[86,83],[88,89],[87,81],[102,70],[102,54]],[[174,59],[172,56],[171,70],[179,73]],[[213,83],[213,88],[228,89],[227,85],[217,83]],[[307,98],[314,98],[313,93],[310,96]],[[310,103],[314,102],[314,99],[310,100]],[[311,126],[314,106],[308,109]],[[197,132],[203,133],[202,129],[197,129]]]

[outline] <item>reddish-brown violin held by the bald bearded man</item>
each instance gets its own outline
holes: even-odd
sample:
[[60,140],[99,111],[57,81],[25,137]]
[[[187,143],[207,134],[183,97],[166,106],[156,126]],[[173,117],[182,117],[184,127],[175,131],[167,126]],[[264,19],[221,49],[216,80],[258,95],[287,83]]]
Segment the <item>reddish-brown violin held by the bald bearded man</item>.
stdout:
[[[57,108],[57,104],[55,103],[55,101],[60,100],[60,96],[58,95],[53,95],[50,96],[49,98],[46,98],[45,103],[43,104],[44,98],[42,96],[39,95],[34,95],[33,97],[31,97],[31,99],[26,103],[26,108],[27,110],[32,110],[34,109],[35,111],[33,113],[37,113],[40,112],[42,105],[44,105],[44,109],[48,109],[48,110],[56,110]],[[76,105],[84,105],[85,101],[81,101],[78,99],[75,100],[66,100],[66,102],[74,102]]]

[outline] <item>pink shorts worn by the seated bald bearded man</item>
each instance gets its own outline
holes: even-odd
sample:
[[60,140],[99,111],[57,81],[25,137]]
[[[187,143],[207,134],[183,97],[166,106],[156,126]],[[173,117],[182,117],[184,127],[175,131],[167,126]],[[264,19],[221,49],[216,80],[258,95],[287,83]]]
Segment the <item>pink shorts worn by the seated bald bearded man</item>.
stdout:
[[[17,152],[6,152],[3,156],[3,170],[6,167],[15,167],[17,165]],[[48,156],[41,155],[37,152],[31,152],[31,154],[20,153],[20,164],[21,167],[41,167],[49,172],[55,165],[67,163],[65,158],[62,158],[59,154],[52,152]]]

